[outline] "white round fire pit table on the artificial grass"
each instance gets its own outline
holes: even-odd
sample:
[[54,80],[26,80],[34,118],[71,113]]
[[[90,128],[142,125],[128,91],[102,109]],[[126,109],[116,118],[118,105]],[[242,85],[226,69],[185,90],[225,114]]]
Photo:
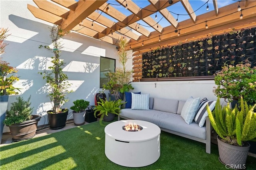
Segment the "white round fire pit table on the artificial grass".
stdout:
[[[129,123],[137,124],[139,131],[123,129]],[[150,122],[122,120],[105,127],[105,154],[112,162],[127,167],[153,164],[160,157],[160,128]]]

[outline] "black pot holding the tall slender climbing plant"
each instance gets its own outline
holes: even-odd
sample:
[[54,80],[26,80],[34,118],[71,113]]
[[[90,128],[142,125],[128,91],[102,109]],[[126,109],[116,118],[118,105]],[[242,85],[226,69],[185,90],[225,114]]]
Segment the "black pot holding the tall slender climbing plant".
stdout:
[[[64,109],[62,109],[64,110]],[[52,110],[47,111],[48,122],[51,129],[60,129],[66,126],[66,120],[68,117],[68,110],[63,113],[50,113]]]

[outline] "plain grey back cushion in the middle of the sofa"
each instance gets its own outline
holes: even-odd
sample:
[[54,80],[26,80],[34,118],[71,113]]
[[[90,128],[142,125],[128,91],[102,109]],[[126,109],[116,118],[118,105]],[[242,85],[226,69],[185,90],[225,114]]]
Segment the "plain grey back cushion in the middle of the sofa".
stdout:
[[153,109],[158,111],[177,113],[178,103],[179,101],[175,99],[154,98]]

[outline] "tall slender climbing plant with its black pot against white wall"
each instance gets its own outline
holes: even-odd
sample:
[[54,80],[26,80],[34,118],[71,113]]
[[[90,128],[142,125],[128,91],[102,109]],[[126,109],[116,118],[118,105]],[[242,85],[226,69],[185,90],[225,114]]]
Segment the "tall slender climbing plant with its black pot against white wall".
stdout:
[[[68,76],[62,70],[65,63],[60,59],[60,49],[62,48],[62,45],[60,44],[59,39],[62,36],[61,33],[63,33],[61,26],[54,25],[50,28],[50,38],[54,47],[53,49],[50,49],[48,46],[44,47],[54,53],[54,56],[51,57],[53,65],[48,67],[50,71],[45,70],[44,72],[39,72],[43,75],[43,79],[46,79],[46,83],[50,87],[48,97],[50,97],[53,105],[52,110],[47,111],[47,116],[50,128],[52,129],[59,129],[66,126],[68,109],[62,109],[61,107],[68,101],[66,98],[67,93],[72,92],[72,90],[68,90],[71,86],[67,81]],[[40,45],[39,48],[40,47],[42,47],[42,45]]]

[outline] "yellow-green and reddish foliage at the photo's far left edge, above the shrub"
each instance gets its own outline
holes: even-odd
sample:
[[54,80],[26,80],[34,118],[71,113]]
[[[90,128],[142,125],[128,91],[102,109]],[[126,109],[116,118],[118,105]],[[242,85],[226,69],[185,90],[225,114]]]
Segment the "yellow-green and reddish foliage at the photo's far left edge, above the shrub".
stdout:
[[[8,29],[7,28],[1,28],[0,29],[0,55],[4,53],[7,43],[4,43],[4,40],[10,36],[10,34],[7,34]],[[13,83],[15,81],[19,80],[19,77],[17,75],[14,75],[14,73],[17,73],[18,70],[15,67],[12,67],[9,65],[10,63],[7,63],[6,61],[2,61],[2,58],[0,58],[0,84],[1,84],[1,92],[0,95],[17,95],[18,91],[20,91],[19,88],[13,87]],[[11,76],[8,76],[12,74]],[[16,91],[18,90],[18,91]]]

